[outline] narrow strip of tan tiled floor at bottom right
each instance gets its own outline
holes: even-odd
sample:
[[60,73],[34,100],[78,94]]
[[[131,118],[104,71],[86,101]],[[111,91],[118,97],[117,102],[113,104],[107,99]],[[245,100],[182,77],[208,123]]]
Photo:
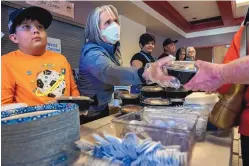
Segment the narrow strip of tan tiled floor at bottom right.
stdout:
[[238,128],[234,128],[232,166],[243,166]]

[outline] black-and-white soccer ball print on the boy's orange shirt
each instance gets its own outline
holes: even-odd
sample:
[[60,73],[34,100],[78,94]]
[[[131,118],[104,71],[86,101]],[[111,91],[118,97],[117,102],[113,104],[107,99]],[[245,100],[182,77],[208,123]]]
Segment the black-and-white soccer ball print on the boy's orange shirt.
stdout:
[[55,70],[44,70],[37,75],[36,96],[60,97],[64,94],[66,88],[65,82],[66,69],[62,69],[61,73]]

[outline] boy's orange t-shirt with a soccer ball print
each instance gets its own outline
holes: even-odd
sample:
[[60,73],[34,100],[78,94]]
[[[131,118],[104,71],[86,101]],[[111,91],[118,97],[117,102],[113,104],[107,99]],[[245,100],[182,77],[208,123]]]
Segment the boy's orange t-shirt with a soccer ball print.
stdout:
[[61,54],[46,51],[32,56],[17,50],[1,60],[2,104],[32,106],[53,102],[60,96],[79,96],[70,64]]

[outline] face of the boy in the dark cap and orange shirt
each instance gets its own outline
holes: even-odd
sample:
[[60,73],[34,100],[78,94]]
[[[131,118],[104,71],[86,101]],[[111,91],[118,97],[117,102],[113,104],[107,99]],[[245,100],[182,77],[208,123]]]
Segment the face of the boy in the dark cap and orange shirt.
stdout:
[[11,34],[9,37],[24,51],[35,52],[36,50],[45,50],[47,45],[46,30],[36,20],[24,20],[21,25],[16,27],[16,33]]

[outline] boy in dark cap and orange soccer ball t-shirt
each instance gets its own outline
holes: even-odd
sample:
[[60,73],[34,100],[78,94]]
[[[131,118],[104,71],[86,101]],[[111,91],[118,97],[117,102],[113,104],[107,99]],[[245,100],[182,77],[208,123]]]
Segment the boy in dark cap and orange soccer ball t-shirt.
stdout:
[[46,104],[60,96],[79,96],[67,59],[46,50],[52,15],[40,7],[9,15],[9,38],[18,50],[2,59],[2,104]]

